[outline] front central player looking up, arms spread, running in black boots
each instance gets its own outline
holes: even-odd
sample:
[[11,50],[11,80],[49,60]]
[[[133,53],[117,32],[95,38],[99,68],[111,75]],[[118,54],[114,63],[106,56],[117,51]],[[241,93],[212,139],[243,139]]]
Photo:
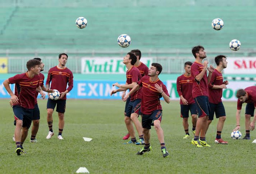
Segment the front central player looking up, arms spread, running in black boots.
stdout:
[[[170,95],[167,91],[166,86],[158,78],[162,71],[162,66],[159,63],[152,63],[149,68],[148,76],[142,77],[138,82],[138,85],[126,94],[124,100],[126,100],[129,95],[136,93],[138,90],[142,89],[142,127],[145,139],[145,147],[137,152],[137,155],[143,155],[145,152],[150,151],[152,148],[150,146],[150,129],[151,125],[154,125],[158,140],[161,145],[162,155],[167,157],[169,153],[166,150],[164,143],[164,131],[161,128],[162,120],[162,106],[160,103],[160,98],[163,97],[166,103],[170,103]],[[153,121],[153,124],[152,124]]]

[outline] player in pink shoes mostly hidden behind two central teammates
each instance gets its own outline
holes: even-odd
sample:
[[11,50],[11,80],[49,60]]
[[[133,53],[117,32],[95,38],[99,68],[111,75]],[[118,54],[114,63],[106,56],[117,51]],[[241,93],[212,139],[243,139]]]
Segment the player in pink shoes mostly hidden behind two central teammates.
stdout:
[[[140,50],[131,50],[131,53],[134,53],[137,57],[137,61],[135,62],[134,66],[137,67],[140,71],[141,76],[147,76],[148,72],[149,72],[149,68],[147,67],[147,65],[145,65],[144,63],[140,62],[140,58],[141,58],[141,52]],[[124,99],[125,96],[125,91],[122,93],[122,100]],[[130,98],[128,98],[126,100],[126,104],[125,104],[125,109],[124,109],[124,116],[126,115],[126,109],[127,106],[130,102]],[[123,137],[124,140],[127,140],[130,137],[130,134],[128,132],[127,135],[125,135]]]

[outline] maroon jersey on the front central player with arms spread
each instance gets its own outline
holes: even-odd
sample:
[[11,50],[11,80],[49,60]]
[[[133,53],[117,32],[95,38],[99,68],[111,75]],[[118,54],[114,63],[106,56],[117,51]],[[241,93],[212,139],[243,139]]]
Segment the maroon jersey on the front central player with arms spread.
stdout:
[[162,106],[160,103],[160,98],[162,97],[162,95],[159,92],[157,92],[155,84],[158,84],[159,86],[162,85],[164,93],[170,96],[163,82],[159,80],[159,78],[157,81],[152,82],[150,81],[149,76],[143,76],[142,79],[138,82],[138,84],[139,86],[142,86],[142,88],[140,88],[142,89],[140,111],[144,115],[149,115],[157,109],[162,110]]

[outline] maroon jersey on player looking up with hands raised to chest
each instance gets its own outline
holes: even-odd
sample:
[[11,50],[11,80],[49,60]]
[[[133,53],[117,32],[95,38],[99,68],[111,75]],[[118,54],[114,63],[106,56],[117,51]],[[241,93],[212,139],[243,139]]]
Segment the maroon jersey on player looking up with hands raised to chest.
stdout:
[[206,71],[205,71],[204,77],[199,82],[195,80],[195,76],[200,74],[203,69],[204,69],[204,65],[202,63],[194,62],[191,66],[191,76],[193,77],[193,88],[192,88],[193,98],[198,96],[206,96],[206,97],[209,96]]

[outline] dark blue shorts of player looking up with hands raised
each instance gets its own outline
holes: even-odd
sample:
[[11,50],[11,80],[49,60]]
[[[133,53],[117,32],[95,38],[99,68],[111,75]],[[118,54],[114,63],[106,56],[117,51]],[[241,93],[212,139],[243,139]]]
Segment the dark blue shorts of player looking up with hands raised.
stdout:
[[210,112],[209,98],[206,96],[198,96],[194,98],[197,106],[198,117],[208,116]]

